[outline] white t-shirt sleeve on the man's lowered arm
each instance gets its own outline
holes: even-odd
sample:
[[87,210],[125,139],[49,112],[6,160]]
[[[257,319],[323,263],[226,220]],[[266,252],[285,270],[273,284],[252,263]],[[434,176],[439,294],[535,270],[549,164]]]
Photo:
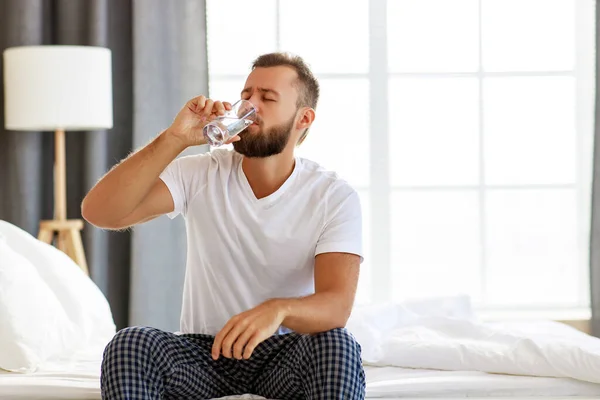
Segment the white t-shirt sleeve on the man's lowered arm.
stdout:
[[358,193],[352,190],[341,199],[329,199],[328,217],[315,255],[321,253],[350,253],[360,256],[362,250],[362,212]]

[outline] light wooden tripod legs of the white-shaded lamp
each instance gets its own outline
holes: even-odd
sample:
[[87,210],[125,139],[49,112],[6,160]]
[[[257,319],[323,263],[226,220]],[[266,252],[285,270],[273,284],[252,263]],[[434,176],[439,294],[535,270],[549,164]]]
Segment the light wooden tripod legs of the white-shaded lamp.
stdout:
[[81,240],[82,229],[83,220],[80,219],[41,221],[38,239],[44,243],[52,244],[56,234],[56,247],[71,257],[83,272],[89,275]]

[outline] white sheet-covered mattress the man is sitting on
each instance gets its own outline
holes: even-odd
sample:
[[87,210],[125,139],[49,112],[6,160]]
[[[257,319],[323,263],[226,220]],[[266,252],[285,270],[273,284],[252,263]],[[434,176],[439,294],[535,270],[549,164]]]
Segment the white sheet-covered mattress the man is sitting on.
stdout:
[[[398,367],[366,367],[367,397],[493,398],[545,396],[600,399],[600,385],[570,378],[542,378],[469,371],[436,371]],[[0,372],[0,399],[100,399],[100,360],[82,357],[69,365],[48,366],[33,374]],[[230,396],[223,399],[258,399]]]

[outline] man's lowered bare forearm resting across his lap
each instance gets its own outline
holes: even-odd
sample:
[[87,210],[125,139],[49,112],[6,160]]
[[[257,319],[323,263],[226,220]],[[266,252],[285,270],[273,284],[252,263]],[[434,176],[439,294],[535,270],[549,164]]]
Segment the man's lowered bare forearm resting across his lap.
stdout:
[[352,309],[352,304],[345,304],[341,296],[333,292],[276,301],[285,315],[283,326],[298,333],[318,333],[343,328]]

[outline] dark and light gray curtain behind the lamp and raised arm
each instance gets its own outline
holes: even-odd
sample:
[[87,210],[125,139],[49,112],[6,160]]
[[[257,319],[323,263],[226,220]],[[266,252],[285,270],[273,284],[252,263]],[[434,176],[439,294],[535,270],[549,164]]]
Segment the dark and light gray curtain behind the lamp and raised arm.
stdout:
[[[166,128],[188,98],[207,93],[205,3],[0,0],[0,51],[39,44],[112,51],[114,128],[67,132],[68,217],[81,218],[81,200],[104,173]],[[1,113],[0,219],[37,235],[39,220],[52,218],[53,154],[51,132],[5,131]],[[90,274],[118,328],[178,329],[186,251],[181,218],[163,216],[127,232],[86,225],[83,238]]]

